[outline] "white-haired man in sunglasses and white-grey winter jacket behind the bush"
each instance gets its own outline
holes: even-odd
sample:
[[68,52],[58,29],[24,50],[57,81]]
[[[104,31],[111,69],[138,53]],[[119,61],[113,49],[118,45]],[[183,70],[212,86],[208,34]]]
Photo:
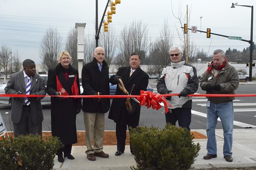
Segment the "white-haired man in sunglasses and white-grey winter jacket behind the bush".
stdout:
[[159,94],[179,94],[169,96],[167,101],[172,108],[166,113],[166,123],[186,127],[190,130],[192,98],[188,94],[194,94],[198,90],[198,77],[196,68],[185,63],[182,59],[182,50],[178,46],[170,48],[171,65],[163,69],[157,82]]

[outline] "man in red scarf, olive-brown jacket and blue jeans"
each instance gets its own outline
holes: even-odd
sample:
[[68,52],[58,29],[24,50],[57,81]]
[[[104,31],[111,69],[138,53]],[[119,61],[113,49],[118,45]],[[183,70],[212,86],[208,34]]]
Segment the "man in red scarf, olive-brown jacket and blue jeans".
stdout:
[[[213,52],[213,61],[203,74],[201,88],[207,94],[235,94],[239,85],[239,77],[236,68],[227,62],[225,53],[222,50]],[[207,155],[204,159],[217,157],[217,143],[215,138],[215,127],[218,118],[221,119],[224,145],[224,159],[232,162],[232,143],[233,143],[233,122],[234,97],[207,97]]]

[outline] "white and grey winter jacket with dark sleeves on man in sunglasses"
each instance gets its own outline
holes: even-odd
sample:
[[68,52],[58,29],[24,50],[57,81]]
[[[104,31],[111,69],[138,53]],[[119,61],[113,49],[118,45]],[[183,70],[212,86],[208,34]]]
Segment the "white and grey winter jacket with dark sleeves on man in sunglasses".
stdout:
[[[185,61],[172,62],[171,66],[163,69],[161,77],[158,79],[157,91],[160,94],[179,94],[185,91],[186,94],[194,94],[198,90],[198,77],[196,68],[186,64]],[[167,100],[174,108],[192,108],[192,97],[172,96],[172,100]]]

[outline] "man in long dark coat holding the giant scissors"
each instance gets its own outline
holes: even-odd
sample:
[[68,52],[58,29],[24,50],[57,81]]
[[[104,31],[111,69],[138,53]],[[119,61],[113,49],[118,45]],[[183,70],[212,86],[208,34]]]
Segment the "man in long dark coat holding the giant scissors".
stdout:
[[[125,85],[125,89],[131,92],[131,95],[140,95],[140,91],[146,91],[148,86],[148,74],[140,68],[140,56],[137,53],[131,54],[130,66],[119,68],[116,75],[111,76],[110,82],[117,84],[119,78]],[[124,95],[123,91],[116,88],[116,95]],[[111,104],[108,118],[116,122],[116,139],[117,151],[116,156],[121,155],[125,151],[126,130],[128,127],[135,128],[139,125],[140,121],[140,105],[134,100],[131,100],[132,110],[128,110],[125,105],[126,98],[114,98]],[[132,147],[130,146],[131,153],[133,154]]]

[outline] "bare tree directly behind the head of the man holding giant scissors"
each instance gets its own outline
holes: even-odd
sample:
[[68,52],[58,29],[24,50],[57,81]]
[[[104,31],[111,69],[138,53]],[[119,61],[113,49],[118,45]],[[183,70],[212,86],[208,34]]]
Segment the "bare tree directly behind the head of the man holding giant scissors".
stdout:
[[134,21],[129,27],[125,26],[120,34],[119,54],[116,64],[122,66],[129,63],[130,55],[136,51],[140,54],[141,64],[145,64],[146,51],[148,51],[148,29],[142,22]]

